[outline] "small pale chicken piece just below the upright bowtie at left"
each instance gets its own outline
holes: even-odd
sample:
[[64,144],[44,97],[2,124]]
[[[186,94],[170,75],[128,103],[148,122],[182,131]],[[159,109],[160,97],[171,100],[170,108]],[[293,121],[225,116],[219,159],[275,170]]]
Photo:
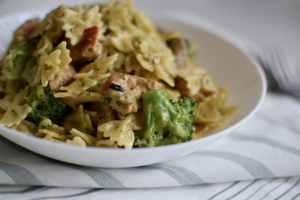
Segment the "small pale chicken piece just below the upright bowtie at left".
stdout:
[[59,91],[61,86],[67,86],[73,82],[73,76],[76,74],[72,64],[69,64],[69,67],[64,70],[62,76],[55,75],[52,80],[49,81],[49,87],[51,90]]

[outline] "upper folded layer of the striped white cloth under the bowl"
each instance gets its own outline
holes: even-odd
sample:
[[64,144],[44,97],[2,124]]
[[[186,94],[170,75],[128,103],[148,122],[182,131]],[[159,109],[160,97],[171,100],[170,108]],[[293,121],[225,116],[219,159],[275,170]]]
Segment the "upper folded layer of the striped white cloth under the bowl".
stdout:
[[300,176],[299,111],[300,103],[292,97],[268,93],[249,121],[208,147],[168,162],[123,169],[64,163],[1,137],[0,184],[149,188]]

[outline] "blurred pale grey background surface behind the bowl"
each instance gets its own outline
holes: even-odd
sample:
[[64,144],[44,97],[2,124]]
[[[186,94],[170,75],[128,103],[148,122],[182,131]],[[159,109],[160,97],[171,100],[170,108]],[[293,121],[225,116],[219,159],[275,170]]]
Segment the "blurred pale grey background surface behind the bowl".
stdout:
[[[0,0],[0,16],[41,7],[52,10],[60,4],[101,2],[106,1]],[[198,18],[233,35],[255,53],[265,46],[278,46],[284,51],[284,59],[300,72],[300,0],[135,0],[134,4],[146,12],[166,10]]]

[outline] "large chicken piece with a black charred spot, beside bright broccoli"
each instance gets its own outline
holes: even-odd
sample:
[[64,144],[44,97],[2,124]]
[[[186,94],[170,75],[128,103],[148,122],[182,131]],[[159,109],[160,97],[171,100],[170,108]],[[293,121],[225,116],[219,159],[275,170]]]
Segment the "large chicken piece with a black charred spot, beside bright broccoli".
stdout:
[[155,80],[147,80],[139,76],[115,73],[102,85],[97,92],[105,97],[114,110],[122,115],[137,112],[142,104],[142,95],[151,89],[161,88]]

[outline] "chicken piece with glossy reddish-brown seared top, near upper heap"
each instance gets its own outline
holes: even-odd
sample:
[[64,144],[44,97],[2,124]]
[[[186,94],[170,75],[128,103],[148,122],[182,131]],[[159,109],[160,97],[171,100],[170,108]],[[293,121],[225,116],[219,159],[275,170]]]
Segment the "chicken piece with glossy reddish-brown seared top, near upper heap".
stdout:
[[91,61],[98,58],[102,52],[102,44],[98,41],[98,27],[85,29],[79,43],[68,48],[73,61]]

